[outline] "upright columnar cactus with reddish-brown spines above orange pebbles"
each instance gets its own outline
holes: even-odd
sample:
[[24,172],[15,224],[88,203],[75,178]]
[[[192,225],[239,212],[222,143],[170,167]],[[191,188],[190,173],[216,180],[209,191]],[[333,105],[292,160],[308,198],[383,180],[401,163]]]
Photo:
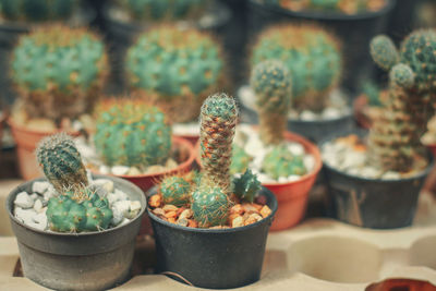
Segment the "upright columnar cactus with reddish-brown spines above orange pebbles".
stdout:
[[202,106],[199,142],[204,179],[226,194],[231,191],[230,165],[238,112],[234,99],[223,93],[209,96]]

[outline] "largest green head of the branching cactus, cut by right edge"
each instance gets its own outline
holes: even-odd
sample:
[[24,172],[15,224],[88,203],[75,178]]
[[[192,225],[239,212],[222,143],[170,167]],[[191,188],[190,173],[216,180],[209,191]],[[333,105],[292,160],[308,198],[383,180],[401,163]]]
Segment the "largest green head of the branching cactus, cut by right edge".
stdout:
[[420,29],[401,44],[400,59],[408,64],[419,89],[436,89],[436,31]]

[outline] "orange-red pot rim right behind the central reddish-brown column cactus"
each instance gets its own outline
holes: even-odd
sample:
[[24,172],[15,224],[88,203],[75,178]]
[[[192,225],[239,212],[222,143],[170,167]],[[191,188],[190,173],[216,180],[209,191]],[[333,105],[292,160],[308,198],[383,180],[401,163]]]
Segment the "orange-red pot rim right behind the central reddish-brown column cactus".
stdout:
[[[257,130],[257,125],[251,125],[255,130]],[[289,181],[289,182],[268,182],[268,183],[262,183],[262,185],[266,187],[270,186],[284,186],[284,185],[292,185],[292,184],[298,184],[301,183],[305,180],[308,180],[313,178],[314,175],[317,175],[320,169],[323,168],[323,159],[320,156],[319,148],[312,142],[310,142],[307,138],[303,137],[300,134],[286,131],[284,132],[284,140],[286,141],[292,141],[301,144],[304,149],[306,150],[307,154],[311,154],[315,158],[315,167],[307,173],[303,174],[300,177],[299,180],[295,181]],[[199,143],[201,141],[198,140],[197,143],[195,144],[195,161],[197,162],[198,167],[202,167],[201,165],[201,159],[199,159]]]

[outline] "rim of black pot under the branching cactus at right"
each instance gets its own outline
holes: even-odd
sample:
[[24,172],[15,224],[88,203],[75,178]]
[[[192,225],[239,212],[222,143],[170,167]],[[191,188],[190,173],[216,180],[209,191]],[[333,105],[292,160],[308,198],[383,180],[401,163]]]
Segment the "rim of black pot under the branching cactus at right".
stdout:
[[[348,136],[348,135],[351,135],[351,134],[355,134],[355,135],[362,137],[362,135],[366,135],[367,134],[367,131],[365,131],[365,130],[354,130],[354,131],[349,131],[349,132],[342,132],[340,134],[332,135],[332,136],[330,135],[330,136],[326,137],[325,140],[323,140],[323,141],[320,141],[318,143],[318,148],[320,148],[320,150],[322,150],[322,148],[327,143],[329,143],[329,142],[331,142],[334,140],[337,140],[339,137]],[[322,161],[323,161],[323,165],[324,165],[324,167],[326,169],[328,169],[329,171],[335,172],[337,174],[344,175],[348,179],[360,180],[362,182],[378,182],[378,183],[385,183],[385,182],[386,183],[402,183],[402,182],[407,182],[407,181],[413,181],[413,180],[416,180],[416,179],[420,179],[422,177],[427,175],[433,170],[433,167],[435,166],[435,159],[434,159],[433,155],[431,153],[428,153],[428,150],[427,150],[427,161],[428,161],[428,163],[427,163],[427,167],[425,167],[424,170],[417,172],[414,175],[403,177],[403,178],[400,178],[400,179],[379,179],[379,178],[360,177],[360,175],[356,175],[356,174],[351,174],[351,173],[347,173],[344,171],[338,170],[338,169],[331,167],[330,165],[328,165],[327,162],[324,162],[323,155],[322,155]]]

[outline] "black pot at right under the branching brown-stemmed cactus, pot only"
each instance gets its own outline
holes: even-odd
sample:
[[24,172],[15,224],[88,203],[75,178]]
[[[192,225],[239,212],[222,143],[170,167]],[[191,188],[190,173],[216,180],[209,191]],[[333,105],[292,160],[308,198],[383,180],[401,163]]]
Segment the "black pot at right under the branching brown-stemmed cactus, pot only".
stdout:
[[[356,132],[362,136],[362,132]],[[326,140],[319,148],[340,136]],[[382,180],[346,173],[324,163],[328,183],[328,214],[340,221],[373,229],[409,227],[416,213],[417,197],[434,166],[428,155],[427,168],[411,178]]]

